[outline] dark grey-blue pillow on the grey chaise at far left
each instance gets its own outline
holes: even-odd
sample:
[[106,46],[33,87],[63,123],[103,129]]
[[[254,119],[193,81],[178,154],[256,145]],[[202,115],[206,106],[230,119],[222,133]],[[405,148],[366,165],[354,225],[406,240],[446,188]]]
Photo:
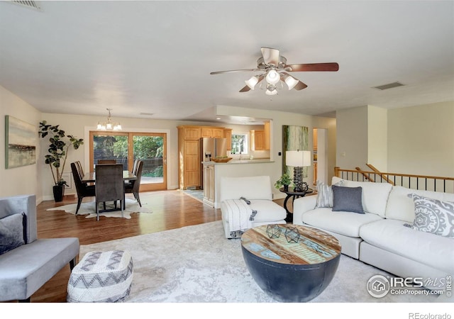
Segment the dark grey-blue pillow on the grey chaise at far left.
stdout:
[[25,244],[24,214],[13,214],[0,219],[0,254]]

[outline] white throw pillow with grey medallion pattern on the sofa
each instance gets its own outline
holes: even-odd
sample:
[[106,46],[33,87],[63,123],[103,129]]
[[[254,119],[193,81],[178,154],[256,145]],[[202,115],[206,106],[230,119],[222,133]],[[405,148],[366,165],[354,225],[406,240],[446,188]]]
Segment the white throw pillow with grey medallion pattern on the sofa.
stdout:
[[413,228],[454,238],[454,202],[409,194],[414,201]]

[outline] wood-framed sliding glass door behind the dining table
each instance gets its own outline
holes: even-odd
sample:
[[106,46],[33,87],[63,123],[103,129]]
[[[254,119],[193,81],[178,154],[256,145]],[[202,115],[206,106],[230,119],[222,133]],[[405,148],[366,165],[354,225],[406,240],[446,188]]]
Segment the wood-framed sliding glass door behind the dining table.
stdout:
[[140,191],[167,189],[166,138],[165,133],[90,131],[90,170],[107,159],[132,171],[135,159],[140,159]]

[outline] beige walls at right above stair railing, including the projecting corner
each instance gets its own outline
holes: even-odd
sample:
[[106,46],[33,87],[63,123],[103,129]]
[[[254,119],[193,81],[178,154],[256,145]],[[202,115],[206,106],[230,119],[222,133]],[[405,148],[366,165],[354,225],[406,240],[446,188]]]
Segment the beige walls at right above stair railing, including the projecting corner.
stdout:
[[454,101],[349,108],[336,120],[338,167],[369,163],[382,172],[454,177]]

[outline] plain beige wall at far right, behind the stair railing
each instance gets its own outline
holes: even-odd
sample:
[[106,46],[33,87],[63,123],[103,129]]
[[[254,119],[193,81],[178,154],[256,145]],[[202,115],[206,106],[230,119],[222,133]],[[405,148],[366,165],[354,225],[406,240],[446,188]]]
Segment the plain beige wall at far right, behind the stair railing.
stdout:
[[454,177],[454,101],[388,110],[388,169]]

